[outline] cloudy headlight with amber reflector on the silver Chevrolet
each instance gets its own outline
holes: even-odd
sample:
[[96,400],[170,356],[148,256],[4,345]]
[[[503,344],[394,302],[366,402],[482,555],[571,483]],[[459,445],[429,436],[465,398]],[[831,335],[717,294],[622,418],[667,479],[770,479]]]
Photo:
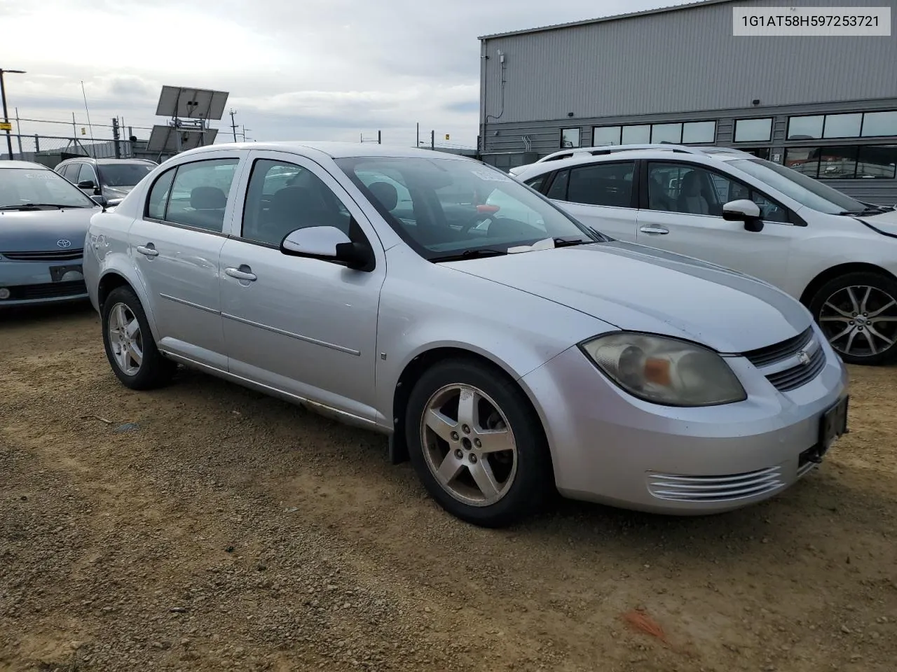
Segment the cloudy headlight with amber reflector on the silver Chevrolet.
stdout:
[[713,350],[684,340],[615,332],[581,343],[592,361],[626,392],[665,406],[745,401],[745,388]]

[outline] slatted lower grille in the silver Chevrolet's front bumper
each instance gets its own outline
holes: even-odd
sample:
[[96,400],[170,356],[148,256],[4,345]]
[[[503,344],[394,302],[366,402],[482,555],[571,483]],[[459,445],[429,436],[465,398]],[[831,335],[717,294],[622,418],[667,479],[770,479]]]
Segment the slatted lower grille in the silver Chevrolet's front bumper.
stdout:
[[658,499],[676,502],[735,502],[783,487],[780,467],[728,476],[648,475],[648,489]]

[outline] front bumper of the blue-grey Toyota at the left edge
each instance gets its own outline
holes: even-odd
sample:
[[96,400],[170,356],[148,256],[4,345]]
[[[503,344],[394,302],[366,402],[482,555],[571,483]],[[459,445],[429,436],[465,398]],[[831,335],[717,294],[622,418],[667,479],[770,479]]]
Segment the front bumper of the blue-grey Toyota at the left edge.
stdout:
[[82,263],[81,258],[52,263],[0,260],[0,289],[9,292],[0,297],[0,309],[86,299]]

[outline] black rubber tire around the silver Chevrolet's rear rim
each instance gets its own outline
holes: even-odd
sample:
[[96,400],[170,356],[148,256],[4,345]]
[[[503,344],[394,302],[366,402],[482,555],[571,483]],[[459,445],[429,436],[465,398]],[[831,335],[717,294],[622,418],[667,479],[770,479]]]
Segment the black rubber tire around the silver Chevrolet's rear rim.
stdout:
[[[118,352],[118,344],[113,343],[109,334],[110,315],[116,306],[125,306],[126,311],[132,314],[139,327],[140,332],[137,334],[139,345],[143,352],[140,366],[136,372],[128,372],[118,363],[116,353]],[[146,319],[144,306],[141,305],[140,299],[129,287],[118,287],[109,292],[109,296],[103,302],[102,306],[102,330],[103,330],[103,347],[106,349],[106,358],[109,359],[109,366],[126,387],[132,390],[152,390],[170,383],[178,368],[176,362],[168,358],[164,358],[156,348],[156,342],[152,338],[150,331],[150,323]]]

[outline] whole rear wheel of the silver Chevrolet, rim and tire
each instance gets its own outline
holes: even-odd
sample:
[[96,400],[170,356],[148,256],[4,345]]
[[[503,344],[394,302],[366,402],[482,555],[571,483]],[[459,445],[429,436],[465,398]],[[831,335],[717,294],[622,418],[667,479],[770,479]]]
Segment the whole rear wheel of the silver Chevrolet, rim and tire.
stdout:
[[109,293],[102,325],[106,358],[126,387],[150,390],[171,380],[178,365],[156,348],[144,306],[132,289],[118,287]]

